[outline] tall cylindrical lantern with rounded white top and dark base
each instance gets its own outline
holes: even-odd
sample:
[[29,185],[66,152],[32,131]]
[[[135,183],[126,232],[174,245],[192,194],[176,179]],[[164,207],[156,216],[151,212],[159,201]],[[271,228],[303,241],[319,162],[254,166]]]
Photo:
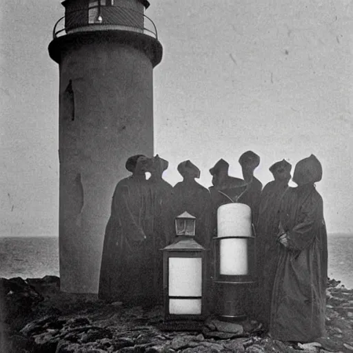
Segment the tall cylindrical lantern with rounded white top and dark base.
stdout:
[[221,319],[244,319],[249,288],[255,277],[255,238],[251,210],[243,203],[228,203],[217,210],[214,240],[214,283],[219,293],[216,311]]

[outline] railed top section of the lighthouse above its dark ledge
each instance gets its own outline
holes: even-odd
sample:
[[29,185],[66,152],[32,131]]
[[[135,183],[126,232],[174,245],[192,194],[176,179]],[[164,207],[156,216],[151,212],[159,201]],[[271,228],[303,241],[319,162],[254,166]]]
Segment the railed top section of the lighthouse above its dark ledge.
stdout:
[[53,37],[92,30],[128,30],[157,39],[157,29],[144,11],[147,0],[65,0],[65,16],[54,28]]

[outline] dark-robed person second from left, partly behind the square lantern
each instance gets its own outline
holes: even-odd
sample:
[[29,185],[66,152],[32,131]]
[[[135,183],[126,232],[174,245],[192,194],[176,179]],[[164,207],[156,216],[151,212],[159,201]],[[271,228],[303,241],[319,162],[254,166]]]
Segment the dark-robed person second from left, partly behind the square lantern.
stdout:
[[150,305],[163,303],[163,256],[161,249],[169,245],[174,239],[174,211],[173,187],[163,180],[162,175],[168,169],[168,161],[157,154],[152,159],[148,172],[151,173],[148,179],[151,193],[152,208],[152,234],[147,239],[150,249],[150,270],[152,273],[151,285],[146,288],[150,290]]

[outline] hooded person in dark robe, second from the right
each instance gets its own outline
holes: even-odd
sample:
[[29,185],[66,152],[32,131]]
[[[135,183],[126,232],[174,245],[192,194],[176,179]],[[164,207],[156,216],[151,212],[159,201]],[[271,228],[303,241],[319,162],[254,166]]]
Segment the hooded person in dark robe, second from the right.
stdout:
[[282,197],[288,189],[292,165],[285,161],[274,163],[270,172],[274,181],[265,185],[261,192],[259,216],[256,224],[256,268],[258,272],[257,317],[268,327],[270,323],[270,303],[276,265],[279,260],[280,245],[276,241],[279,229],[279,208]]

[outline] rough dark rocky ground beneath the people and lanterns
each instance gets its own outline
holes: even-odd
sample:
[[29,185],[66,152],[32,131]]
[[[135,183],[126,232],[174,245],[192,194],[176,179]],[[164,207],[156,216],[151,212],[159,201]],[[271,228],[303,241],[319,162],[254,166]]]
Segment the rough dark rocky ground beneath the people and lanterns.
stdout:
[[321,344],[272,340],[256,321],[208,319],[174,331],[162,317],[161,307],[143,310],[60,293],[54,276],[0,279],[1,353],[353,352],[353,290],[334,280],[328,281],[328,337]]

